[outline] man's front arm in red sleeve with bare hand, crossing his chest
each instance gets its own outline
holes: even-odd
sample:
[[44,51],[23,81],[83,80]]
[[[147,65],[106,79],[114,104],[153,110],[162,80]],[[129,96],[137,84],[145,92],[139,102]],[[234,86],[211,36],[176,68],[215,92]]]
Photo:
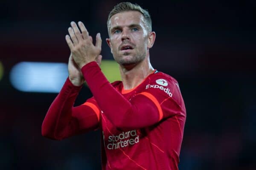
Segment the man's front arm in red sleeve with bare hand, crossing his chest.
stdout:
[[[72,27],[72,28],[71,28]],[[159,122],[163,119],[163,109],[159,101],[150,93],[141,93],[131,101],[125,99],[122,94],[108,82],[95,61],[101,60],[101,37],[96,36],[96,44],[93,45],[84,24],[71,22],[69,35],[66,36],[67,44],[73,54],[73,59],[81,68],[84,79],[87,81],[93,96],[108,119],[119,128],[140,128]],[[169,96],[167,98],[169,99]],[[164,99],[164,100],[165,100]],[[175,107],[167,109],[165,116],[175,115],[180,112],[180,105],[170,99]]]

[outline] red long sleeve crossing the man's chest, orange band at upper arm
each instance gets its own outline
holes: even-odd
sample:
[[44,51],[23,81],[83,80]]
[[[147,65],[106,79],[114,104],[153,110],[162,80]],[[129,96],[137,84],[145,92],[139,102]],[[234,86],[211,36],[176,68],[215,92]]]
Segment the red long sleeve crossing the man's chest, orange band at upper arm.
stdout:
[[[84,65],[81,71],[99,107],[116,127],[141,128],[163,118],[163,110],[158,102],[154,102],[157,99],[153,95],[142,93],[128,101],[108,82],[96,62]],[[174,106],[179,109],[175,103]]]

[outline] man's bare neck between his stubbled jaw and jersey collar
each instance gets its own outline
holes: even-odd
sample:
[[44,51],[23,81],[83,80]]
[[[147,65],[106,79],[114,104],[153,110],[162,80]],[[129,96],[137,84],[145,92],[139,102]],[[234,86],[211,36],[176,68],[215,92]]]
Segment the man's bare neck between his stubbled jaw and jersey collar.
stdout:
[[153,71],[154,68],[149,61],[148,53],[145,59],[140,63],[129,66],[120,65],[120,74],[124,89],[129,90],[135,88]]

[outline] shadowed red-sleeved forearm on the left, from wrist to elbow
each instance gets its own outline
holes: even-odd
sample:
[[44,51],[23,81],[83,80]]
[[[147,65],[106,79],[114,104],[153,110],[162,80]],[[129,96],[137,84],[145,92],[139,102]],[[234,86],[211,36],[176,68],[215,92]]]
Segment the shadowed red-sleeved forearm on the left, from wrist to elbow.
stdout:
[[[67,79],[54,99],[42,124],[42,135],[51,139],[65,136],[65,127],[70,124],[72,108],[82,86],[76,87]],[[68,133],[68,132],[66,132]]]

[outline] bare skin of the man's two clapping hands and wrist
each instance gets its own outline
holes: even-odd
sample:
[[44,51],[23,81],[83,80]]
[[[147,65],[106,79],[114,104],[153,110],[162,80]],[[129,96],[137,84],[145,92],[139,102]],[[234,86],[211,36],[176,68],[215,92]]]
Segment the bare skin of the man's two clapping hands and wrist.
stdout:
[[100,65],[102,60],[102,56],[99,55],[102,45],[100,34],[96,35],[96,44],[93,45],[93,38],[89,36],[84,24],[80,21],[78,24],[81,31],[75,22],[71,22],[71,27],[68,28],[70,36],[66,35],[66,41],[71,51],[68,62],[69,79],[76,86],[82,85],[85,81],[81,68],[92,61],[96,61]]

